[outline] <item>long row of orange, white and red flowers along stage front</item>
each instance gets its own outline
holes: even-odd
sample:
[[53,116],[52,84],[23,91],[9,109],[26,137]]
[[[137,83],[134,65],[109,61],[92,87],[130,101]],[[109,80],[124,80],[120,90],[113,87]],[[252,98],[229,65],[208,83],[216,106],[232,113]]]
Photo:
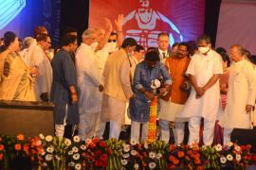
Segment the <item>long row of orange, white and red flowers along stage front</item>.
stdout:
[[[26,158],[43,169],[246,169],[256,163],[251,145],[175,145],[162,141],[137,144],[98,138],[81,142],[44,136],[0,136],[0,169],[11,159]],[[17,163],[15,161],[15,163]]]

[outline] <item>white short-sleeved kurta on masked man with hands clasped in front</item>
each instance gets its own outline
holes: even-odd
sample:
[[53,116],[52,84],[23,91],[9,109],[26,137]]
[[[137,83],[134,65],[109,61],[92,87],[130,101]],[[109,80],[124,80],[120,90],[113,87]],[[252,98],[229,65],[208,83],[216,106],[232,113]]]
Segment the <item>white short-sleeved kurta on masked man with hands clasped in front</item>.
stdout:
[[[203,87],[210,77],[223,73],[222,59],[215,51],[210,50],[207,56],[196,53],[187,69],[186,74],[195,76],[197,85]],[[207,121],[215,121],[217,113],[222,111],[220,102],[219,81],[200,98],[196,98],[196,92],[192,88],[183,110],[176,118],[181,120],[191,117],[204,117]]]

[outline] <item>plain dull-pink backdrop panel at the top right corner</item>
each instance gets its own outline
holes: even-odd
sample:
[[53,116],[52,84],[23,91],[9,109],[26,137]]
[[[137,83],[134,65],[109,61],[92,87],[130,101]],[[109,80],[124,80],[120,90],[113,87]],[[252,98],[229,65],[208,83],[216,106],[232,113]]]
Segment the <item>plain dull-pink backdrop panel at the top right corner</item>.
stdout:
[[220,8],[216,47],[229,50],[241,44],[256,55],[256,2],[253,0],[223,0]]

